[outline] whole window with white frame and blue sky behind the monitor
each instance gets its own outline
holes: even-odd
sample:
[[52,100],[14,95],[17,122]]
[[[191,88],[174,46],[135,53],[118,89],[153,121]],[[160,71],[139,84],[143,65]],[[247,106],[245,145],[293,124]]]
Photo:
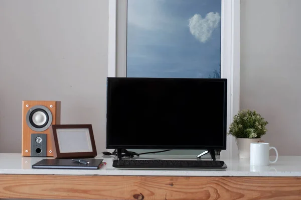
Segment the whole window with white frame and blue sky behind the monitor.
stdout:
[[[109,0],[108,76],[228,79],[239,110],[239,0]],[[228,136],[221,156],[237,153]]]

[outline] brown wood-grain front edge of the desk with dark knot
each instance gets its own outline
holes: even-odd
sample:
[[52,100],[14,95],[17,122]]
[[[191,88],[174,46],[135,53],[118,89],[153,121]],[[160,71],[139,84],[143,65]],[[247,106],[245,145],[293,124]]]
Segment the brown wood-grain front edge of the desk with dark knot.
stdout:
[[290,200],[301,178],[1,174],[0,198]]

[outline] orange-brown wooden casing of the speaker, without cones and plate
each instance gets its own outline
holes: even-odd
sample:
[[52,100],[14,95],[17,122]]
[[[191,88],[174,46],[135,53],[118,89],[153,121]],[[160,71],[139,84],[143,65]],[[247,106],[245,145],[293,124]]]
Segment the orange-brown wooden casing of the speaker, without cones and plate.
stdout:
[[[26,107],[26,105],[29,105]],[[60,124],[61,120],[61,102],[56,101],[23,101],[23,111],[22,111],[22,156],[31,155],[31,134],[32,133],[46,133],[47,134],[47,156],[53,156],[53,153],[49,151],[52,150],[52,141],[50,136],[50,130],[47,129],[42,132],[33,131],[26,123],[27,112],[34,106],[41,105],[48,108],[52,114],[52,125]],[[50,108],[50,105],[53,107]],[[26,152],[28,150],[28,152]],[[53,151],[53,150],[52,150]]]

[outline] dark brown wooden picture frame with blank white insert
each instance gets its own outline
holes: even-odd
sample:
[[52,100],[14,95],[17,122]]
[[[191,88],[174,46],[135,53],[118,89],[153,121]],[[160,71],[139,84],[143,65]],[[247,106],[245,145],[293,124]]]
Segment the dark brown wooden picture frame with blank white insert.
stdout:
[[52,125],[54,158],[94,158],[97,156],[91,124]]

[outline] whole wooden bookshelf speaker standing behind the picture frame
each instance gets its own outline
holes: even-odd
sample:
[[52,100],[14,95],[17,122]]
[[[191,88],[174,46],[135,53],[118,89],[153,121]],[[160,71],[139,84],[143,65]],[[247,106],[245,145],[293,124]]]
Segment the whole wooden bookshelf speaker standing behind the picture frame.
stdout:
[[61,124],[61,102],[23,101],[22,156],[53,156],[53,124]]

